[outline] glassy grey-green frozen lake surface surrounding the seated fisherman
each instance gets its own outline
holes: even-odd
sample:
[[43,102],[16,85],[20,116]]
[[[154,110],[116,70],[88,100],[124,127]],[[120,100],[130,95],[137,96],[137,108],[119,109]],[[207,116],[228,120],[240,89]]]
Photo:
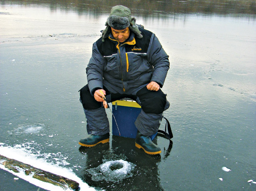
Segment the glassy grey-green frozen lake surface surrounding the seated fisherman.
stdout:
[[[68,169],[96,189],[255,190],[254,1],[0,2],[0,155]],[[157,136],[157,157],[129,138],[78,145],[86,136],[78,90],[87,83],[92,43],[116,4],[129,6],[170,56],[162,90],[174,138],[169,144]],[[88,174],[121,159],[134,169],[119,181]],[[6,190],[13,189],[10,183]]]

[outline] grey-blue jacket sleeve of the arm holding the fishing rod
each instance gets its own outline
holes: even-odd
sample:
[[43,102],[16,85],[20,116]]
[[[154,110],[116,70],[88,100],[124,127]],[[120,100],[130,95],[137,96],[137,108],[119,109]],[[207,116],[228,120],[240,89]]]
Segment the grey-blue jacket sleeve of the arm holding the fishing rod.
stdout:
[[92,57],[86,68],[89,90],[93,96],[94,90],[103,89],[103,68],[106,60],[100,54],[96,42],[93,43]]

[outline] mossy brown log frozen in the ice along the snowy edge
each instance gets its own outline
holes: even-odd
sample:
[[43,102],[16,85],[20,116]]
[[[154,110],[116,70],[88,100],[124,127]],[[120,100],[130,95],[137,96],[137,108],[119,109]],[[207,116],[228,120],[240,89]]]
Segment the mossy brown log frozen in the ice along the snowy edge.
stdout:
[[5,168],[8,168],[13,172],[18,173],[20,171],[24,171],[26,175],[32,174],[33,178],[52,183],[53,185],[60,186],[64,189],[68,187],[75,190],[79,189],[79,183],[74,180],[41,170],[31,165],[22,163],[18,160],[10,159],[0,155],[0,161],[2,161],[2,164],[5,166]]

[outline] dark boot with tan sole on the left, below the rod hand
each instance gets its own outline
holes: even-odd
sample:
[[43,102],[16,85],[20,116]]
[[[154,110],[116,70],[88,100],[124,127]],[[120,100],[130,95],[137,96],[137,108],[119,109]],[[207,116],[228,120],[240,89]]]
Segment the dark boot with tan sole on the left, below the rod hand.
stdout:
[[81,139],[79,141],[79,144],[81,146],[92,147],[99,143],[104,144],[108,142],[109,142],[109,133],[105,135],[90,135],[87,138]]

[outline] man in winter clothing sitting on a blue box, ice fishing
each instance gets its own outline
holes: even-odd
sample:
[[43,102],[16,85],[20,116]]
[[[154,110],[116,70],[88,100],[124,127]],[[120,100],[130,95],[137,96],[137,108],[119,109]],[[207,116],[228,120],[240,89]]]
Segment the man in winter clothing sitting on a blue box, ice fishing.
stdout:
[[132,98],[142,107],[135,121],[135,146],[151,155],[161,153],[149,136],[157,133],[162,113],[169,107],[160,88],[170,63],[155,34],[140,28],[135,21],[128,8],[114,6],[106,29],[93,44],[86,68],[88,84],[80,90],[89,134],[79,141],[81,146],[109,142],[109,122],[102,107],[104,96],[107,102]]

